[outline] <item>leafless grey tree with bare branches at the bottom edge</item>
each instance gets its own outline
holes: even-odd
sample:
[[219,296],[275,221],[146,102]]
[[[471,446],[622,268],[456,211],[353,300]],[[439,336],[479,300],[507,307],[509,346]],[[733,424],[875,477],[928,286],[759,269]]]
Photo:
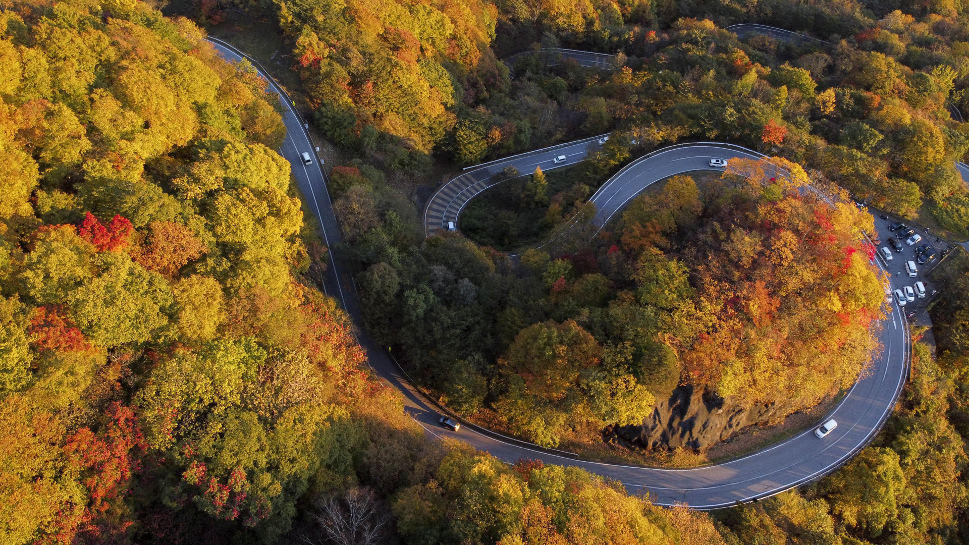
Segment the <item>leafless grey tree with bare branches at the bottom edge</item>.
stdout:
[[384,537],[390,518],[380,500],[369,489],[352,488],[316,501],[313,520],[323,539],[305,539],[311,545],[377,545]]

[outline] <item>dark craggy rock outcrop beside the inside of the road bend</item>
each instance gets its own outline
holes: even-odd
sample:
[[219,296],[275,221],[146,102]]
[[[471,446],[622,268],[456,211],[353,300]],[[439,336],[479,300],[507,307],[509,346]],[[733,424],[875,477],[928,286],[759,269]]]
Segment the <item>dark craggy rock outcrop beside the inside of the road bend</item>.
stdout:
[[672,391],[669,400],[657,402],[652,416],[641,426],[613,427],[604,438],[643,449],[703,451],[748,426],[779,423],[798,408],[796,401],[741,405],[730,397],[682,385]]

